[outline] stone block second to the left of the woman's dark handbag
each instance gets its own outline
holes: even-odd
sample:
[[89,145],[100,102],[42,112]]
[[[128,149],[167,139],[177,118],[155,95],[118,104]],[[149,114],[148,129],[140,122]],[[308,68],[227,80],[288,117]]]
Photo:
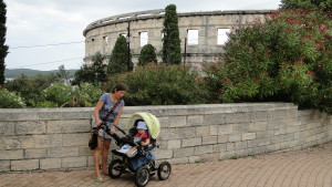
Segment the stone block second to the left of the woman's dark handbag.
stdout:
[[33,135],[34,148],[50,148],[62,146],[62,134]]

